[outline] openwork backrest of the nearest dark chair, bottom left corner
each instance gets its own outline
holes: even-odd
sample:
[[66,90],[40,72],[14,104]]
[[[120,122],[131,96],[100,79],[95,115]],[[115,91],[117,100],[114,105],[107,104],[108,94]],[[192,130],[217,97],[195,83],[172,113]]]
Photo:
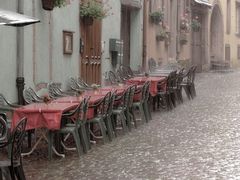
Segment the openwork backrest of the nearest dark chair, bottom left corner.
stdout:
[[22,144],[26,131],[27,118],[23,118],[19,121],[17,126],[13,129],[12,135],[10,137],[12,143],[11,150],[11,163],[15,164],[16,162],[20,162],[21,152],[22,152]]

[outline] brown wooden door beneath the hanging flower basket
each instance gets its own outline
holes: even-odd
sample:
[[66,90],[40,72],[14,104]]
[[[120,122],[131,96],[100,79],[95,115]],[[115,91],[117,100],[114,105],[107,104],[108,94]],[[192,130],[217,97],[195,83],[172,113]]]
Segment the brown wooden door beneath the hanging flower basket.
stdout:
[[81,77],[88,84],[101,84],[101,21],[87,25],[82,19],[80,34],[84,47],[81,51]]

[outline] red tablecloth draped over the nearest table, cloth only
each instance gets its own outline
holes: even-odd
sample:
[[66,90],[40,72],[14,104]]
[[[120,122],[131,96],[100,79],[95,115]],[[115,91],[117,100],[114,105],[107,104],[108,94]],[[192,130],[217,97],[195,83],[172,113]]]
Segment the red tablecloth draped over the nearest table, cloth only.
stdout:
[[78,103],[33,103],[14,110],[12,129],[18,121],[26,117],[26,129],[47,128],[56,130],[60,128],[62,113],[77,107]]

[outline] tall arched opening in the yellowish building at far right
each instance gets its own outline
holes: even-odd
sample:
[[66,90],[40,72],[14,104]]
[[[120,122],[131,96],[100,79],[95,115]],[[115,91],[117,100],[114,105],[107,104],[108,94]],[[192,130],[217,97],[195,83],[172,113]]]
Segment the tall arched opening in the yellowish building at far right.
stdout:
[[213,7],[210,25],[210,57],[211,61],[224,60],[223,17],[218,4]]

